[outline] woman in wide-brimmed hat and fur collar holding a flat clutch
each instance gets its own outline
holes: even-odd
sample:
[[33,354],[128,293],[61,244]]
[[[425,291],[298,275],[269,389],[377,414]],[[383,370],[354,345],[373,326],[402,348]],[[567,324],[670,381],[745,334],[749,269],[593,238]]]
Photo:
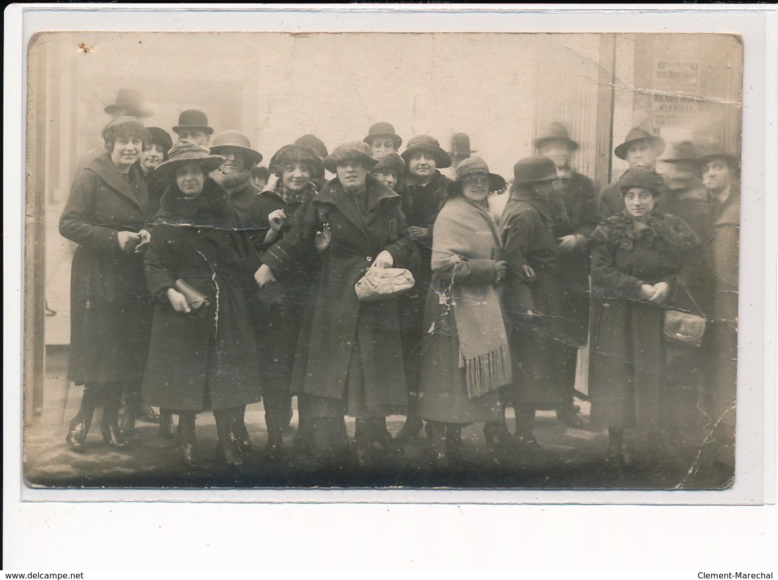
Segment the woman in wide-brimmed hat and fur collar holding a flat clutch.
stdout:
[[259,261],[224,190],[209,173],[224,162],[182,140],[159,171],[170,183],[145,255],[156,300],[143,397],[178,414],[182,462],[198,463],[195,416],[213,411],[217,459],[244,463],[234,425],[260,399],[250,302]]

